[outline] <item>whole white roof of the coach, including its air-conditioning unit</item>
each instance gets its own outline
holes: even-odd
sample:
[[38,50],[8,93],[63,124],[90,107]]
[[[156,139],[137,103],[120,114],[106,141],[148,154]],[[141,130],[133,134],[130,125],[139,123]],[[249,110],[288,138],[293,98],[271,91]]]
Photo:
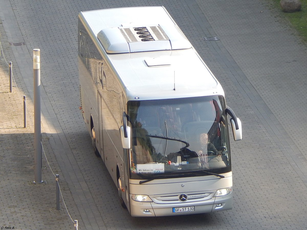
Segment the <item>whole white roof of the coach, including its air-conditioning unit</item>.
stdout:
[[163,6],[86,11],[79,19],[127,100],[224,94]]

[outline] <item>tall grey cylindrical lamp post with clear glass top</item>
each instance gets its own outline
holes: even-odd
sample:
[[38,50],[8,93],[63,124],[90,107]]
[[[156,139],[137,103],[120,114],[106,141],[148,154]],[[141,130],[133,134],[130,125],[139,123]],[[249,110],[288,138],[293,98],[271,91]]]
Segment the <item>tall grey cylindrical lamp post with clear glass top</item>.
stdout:
[[34,164],[35,181],[41,180],[41,50],[33,49],[33,81],[34,81]]

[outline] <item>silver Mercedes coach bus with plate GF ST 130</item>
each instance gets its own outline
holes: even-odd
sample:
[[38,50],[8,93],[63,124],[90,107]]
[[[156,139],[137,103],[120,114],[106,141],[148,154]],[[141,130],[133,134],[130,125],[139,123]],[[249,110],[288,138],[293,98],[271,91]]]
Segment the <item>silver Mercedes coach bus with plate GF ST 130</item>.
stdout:
[[[146,17],[144,16],[146,12]],[[232,208],[224,91],[163,6],[80,12],[81,111],[131,216]]]

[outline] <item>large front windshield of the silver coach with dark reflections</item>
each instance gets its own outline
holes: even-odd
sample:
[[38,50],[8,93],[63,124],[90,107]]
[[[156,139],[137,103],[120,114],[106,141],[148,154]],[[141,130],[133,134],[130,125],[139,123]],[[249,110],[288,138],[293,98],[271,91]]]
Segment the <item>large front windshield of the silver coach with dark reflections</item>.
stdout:
[[225,109],[223,96],[129,101],[130,178],[231,171]]

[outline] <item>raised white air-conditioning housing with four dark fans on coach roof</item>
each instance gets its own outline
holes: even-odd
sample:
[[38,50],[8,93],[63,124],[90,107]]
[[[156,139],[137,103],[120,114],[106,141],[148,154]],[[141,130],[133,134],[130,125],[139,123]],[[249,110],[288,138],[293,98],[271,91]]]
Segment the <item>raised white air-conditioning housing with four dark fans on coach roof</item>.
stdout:
[[113,27],[101,30],[97,37],[106,52],[114,54],[191,47],[189,41],[178,32],[175,25],[169,25],[165,28],[166,32],[161,25]]

